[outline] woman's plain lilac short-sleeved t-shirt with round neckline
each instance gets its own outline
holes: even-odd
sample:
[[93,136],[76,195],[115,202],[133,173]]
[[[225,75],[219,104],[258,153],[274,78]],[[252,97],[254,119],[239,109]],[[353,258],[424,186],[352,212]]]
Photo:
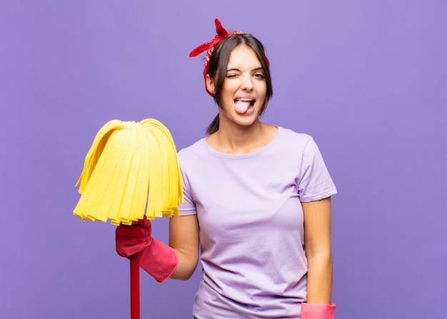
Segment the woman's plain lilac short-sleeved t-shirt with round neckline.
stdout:
[[301,201],[336,193],[311,136],[278,127],[252,153],[219,153],[201,139],[179,152],[181,215],[197,214],[199,319],[299,318],[307,260]]

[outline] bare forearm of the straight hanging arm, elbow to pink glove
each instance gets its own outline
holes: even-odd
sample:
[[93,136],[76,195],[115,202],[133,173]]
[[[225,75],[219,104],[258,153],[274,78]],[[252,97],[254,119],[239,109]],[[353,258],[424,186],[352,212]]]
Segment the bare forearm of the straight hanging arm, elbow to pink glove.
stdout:
[[331,303],[332,273],[333,265],[330,252],[308,254],[308,303]]

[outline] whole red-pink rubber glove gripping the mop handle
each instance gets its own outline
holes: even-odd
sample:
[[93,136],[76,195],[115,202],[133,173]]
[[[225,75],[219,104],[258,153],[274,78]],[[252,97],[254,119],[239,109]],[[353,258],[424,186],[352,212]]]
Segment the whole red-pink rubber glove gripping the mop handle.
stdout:
[[146,218],[132,226],[116,227],[116,252],[123,257],[138,253],[140,267],[163,283],[176,270],[179,258],[174,249],[153,238],[151,230]]

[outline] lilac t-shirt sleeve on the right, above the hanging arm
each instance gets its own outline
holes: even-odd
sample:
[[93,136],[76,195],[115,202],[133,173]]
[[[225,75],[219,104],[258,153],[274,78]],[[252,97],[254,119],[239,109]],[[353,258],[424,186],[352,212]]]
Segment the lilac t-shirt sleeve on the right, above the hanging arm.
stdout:
[[303,151],[301,172],[298,176],[300,201],[318,201],[337,193],[323,156],[313,138],[308,140]]

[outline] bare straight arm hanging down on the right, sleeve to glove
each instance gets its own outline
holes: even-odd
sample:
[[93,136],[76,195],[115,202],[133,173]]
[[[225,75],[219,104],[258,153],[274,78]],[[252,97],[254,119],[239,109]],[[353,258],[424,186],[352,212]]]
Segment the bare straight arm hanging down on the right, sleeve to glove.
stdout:
[[330,304],[332,294],[331,198],[302,203],[308,260],[307,303]]

